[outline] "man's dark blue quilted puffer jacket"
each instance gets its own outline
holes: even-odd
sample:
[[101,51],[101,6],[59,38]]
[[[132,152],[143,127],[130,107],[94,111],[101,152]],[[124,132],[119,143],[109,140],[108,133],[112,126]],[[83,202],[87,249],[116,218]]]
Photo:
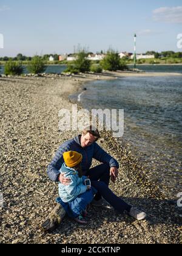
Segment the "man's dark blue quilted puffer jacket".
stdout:
[[110,167],[119,168],[118,162],[109,154],[107,154],[107,152],[104,151],[97,143],[94,142],[90,146],[82,148],[79,141],[80,137],[81,135],[78,135],[72,140],[68,140],[65,143],[61,144],[52,162],[47,167],[47,174],[50,180],[58,182],[58,178],[60,175],[59,169],[61,169],[61,166],[64,163],[62,155],[64,152],[67,151],[76,151],[79,154],[83,155],[81,166],[84,175],[87,175],[87,171],[89,171],[90,166],[92,165],[92,158],[95,158],[101,163],[108,163]]

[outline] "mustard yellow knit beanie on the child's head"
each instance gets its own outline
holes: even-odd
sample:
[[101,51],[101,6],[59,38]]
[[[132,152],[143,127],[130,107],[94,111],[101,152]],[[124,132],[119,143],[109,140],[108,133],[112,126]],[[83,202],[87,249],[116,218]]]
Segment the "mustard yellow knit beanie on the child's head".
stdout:
[[68,167],[75,167],[82,161],[83,155],[75,151],[68,151],[63,153],[63,158]]

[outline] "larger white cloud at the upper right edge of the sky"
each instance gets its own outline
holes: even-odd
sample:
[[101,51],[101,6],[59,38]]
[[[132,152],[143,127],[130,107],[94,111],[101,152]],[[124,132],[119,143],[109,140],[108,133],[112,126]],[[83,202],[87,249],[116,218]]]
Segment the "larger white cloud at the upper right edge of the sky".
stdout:
[[182,6],[155,9],[153,10],[153,18],[155,21],[165,23],[182,23]]

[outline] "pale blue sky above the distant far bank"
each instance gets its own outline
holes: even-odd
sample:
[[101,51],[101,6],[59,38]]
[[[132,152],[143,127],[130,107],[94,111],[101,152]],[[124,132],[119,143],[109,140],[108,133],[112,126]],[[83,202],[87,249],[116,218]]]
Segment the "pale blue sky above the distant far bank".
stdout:
[[65,54],[80,44],[91,52],[112,48],[181,51],[181,0],[0,0],[0,57]]

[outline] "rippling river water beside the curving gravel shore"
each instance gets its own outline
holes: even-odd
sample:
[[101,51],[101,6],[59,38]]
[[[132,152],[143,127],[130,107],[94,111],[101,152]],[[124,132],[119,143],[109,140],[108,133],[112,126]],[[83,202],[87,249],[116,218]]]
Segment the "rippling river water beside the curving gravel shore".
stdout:
[[124,109],[124,141],[145,166],[146,175],[165,194],[176,197],[182,172],[182,76],[126,77],[84,87],[84,108]]

